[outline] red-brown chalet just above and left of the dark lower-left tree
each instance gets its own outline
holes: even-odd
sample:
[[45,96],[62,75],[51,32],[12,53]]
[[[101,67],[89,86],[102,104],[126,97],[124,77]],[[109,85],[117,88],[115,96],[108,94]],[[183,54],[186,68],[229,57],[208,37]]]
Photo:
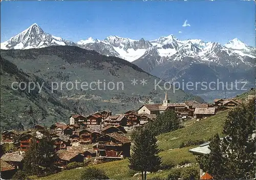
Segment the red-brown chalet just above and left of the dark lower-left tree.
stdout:
[[30,143],[32,138],[35,138],[36,142],[39,142],[42,138],[44,138],[44,135],[40,132],[36,131],[33,133],[28,133],[22,137],[19,138],[19,144],[20,144],[20,150],[26,151],[30,147]]

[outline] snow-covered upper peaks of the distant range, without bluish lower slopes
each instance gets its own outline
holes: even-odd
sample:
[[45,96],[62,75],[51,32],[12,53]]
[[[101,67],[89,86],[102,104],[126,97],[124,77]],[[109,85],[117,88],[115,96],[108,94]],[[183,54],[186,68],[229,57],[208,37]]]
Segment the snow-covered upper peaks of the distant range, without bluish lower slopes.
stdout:
[[167,59],[183,61],[183,58],[189,57],[203,62],[214,61],[221,63],[225,59],[237,58],[241,61],[243,58],[255,57],[255,48],[247,46],[237,38],[230,40],[224,46],[218,42],[206,42],[201,39],[179,40],[173,34],[162,36],[152,41],[143,38],[134,40],[119,36],[109,36],[102,41],[90,37],[74,43],[45,33],[36,23],[8,41],[1,43],[1,49],[28,49],[51,45],[79,46],[89,50],[96,50],[102,55],[115,56],[130,62],[150,58],[152,61],[156,60],[161,63]]

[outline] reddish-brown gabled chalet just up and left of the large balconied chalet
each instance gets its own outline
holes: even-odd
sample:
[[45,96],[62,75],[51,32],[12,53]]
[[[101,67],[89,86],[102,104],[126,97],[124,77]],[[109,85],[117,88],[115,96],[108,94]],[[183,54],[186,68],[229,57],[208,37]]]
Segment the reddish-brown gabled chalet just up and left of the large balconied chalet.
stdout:
[[85,128],[77,131],[77,135],[79,136],[79,144],[89,144],[95,142],[95,140],[99,137],[99,132]]

